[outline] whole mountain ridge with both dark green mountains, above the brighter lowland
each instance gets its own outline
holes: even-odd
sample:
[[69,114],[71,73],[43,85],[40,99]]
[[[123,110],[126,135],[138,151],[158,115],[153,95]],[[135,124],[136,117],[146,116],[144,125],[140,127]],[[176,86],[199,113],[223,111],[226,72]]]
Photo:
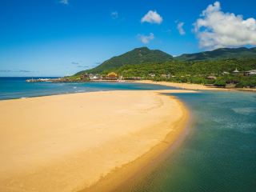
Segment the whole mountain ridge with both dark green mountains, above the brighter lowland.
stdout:
[[101,74],[103,71],[117,70],[122,66],[140,65],[140,64],[155,64],[170,61],[177,62],[203,62],[203,61],[217,61],[228,59],[250,59],[256,58],[256,47],[246,48],[219,48],[217,50],[203,51],[194,54],[182,54],[178,57],[173,57],[166,54],[162,50],[150,50],[146,46],[135,48],[124,54],[114,56],[99,66],[90,70],[82,70],[75,75],[91,73]]

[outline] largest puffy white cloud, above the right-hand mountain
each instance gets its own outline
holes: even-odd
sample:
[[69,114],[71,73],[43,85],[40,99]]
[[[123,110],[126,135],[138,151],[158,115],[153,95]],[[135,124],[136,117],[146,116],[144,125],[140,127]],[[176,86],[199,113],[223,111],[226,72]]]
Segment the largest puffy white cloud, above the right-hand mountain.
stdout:
[[214,2],[202,11],[194,23],[194,32],[199,39],[199,46],[207,50],[256,45],[255,19],[224,13],[220,2]]

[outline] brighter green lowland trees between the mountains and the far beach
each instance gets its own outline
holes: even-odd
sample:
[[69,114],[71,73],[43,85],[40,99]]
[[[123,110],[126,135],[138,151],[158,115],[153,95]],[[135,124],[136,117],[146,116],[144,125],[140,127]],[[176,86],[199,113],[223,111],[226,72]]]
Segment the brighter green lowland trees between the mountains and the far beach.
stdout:
[[[256,59],[144,63],[141,65],[126,65],[111,69],[111,71],[123,77],[141,77],[154,81],[190,82],[214,84],[215,86],[225,86],[230,83],[235,83],[237,87],[256,86],[256,76],[244,76],[243,73],[232,74],[236,68],[239,71],[256,69]],[[105,70],[102,74],[107,74],[108,72],[110,70]],[[228,72],[229,74],[223,74],[223,72]],[[151,78],[150,74],[155,74],[155,77]],[[214,76],[216,79],[208,79],[209,76]]]

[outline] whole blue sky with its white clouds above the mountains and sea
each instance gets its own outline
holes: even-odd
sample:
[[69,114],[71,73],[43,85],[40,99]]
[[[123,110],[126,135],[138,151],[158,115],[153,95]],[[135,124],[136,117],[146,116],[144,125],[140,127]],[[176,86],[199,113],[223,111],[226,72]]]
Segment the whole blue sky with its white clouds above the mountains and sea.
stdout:
[[254,0],[0,3],[0,76],[74,74],[140,46],[172,55],[256,46]]

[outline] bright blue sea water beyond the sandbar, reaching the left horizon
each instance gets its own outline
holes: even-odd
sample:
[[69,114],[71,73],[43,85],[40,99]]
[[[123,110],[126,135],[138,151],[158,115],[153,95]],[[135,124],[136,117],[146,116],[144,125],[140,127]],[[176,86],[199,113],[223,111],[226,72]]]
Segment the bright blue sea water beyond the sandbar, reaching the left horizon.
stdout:
[[26,82],[28,78],[0,78],[0,100],[27,98],[51,94],[70,94],[100,90],[153,90],[175,89],[167,86],[152,86],[141,83],[125,82],[85,82],[85,83],[52,83]]

